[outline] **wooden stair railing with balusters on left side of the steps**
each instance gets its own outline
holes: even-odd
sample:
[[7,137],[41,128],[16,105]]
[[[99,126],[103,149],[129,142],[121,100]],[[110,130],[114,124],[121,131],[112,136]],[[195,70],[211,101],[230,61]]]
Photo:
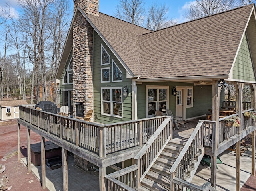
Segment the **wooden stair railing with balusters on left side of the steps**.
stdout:
[[172,138],[172,117],[167,116],[138,154],[134,157],[138,165],[136,186],[139,187],[142,179],[148,173],[164,147]]

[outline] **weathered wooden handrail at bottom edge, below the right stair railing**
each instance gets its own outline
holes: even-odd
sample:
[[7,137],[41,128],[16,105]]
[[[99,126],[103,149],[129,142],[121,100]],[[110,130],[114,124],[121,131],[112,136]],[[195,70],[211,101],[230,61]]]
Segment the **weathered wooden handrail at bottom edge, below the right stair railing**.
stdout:
[[[184,181],[179,178],[173,178],[173,182],[177,185],[180,185],[183,189],[184,188],[190,189],[190,191],[218,191],[218,189],[211,186],[210,182],[205,182],[201,186],[192,184],[190,182]],[[181,190],[183,190],[182,188]],[[176,188],[176,190],[179,190],[179,189]]]

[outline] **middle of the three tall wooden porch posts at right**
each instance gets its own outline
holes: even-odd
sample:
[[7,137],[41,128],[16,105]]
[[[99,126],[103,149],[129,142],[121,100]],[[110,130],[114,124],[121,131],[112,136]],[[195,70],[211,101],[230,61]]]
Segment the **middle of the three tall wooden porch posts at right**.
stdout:
[[[237,112],[241,118],[240,124],[244,124],[242,120],[242,91],[243,91],[244,83],[237,83],[237,93],[236,93],[236,108]],[[238,134],[241,134],[241,126],[238,127]],[[241,140],[236,143],[236,191],[240,191],[240,160],[241,160]]]

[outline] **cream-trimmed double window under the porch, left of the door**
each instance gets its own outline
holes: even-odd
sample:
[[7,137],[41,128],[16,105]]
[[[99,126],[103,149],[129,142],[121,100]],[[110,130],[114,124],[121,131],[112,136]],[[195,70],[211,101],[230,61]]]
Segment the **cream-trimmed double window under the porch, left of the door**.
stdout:
[[168,86],[147,86],[146,87],[146,116],[154,116],[156,110],[163,113],[168,108]]

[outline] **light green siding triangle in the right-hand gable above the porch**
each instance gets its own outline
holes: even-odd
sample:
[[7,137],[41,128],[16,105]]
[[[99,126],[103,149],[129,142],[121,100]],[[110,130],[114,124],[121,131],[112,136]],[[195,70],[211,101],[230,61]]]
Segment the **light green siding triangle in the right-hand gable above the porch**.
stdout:
[[233,79],[255,81],[254,67],[246,35],[244,35],[233,67]]

